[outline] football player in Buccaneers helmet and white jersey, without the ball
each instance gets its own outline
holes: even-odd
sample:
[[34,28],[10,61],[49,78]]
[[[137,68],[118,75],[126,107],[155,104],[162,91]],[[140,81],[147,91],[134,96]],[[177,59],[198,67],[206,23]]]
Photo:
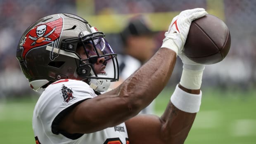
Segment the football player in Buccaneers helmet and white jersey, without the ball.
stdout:
[[[204,65],[187,59],[183,46],[191,21],[206,14],[197,8],[174,17],[152,59],[110,91],[119,67],[104,33],[73,14],[32,24],[17,59],[31,88],[43,91],[33,112],[36,144],[184,143],[199,111]],[[178,55],[183,74],[163,115],[137,115],[164,89]]]

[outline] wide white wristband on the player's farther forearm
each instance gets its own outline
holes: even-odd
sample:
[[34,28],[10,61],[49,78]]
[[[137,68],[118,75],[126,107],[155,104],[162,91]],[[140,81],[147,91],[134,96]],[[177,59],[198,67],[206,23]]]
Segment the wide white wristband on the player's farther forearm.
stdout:
[[172,104],[187,113],[197,113],[201,105],[202,92],[200,94],[190,94],[176,86],[173,95],[171,96]]

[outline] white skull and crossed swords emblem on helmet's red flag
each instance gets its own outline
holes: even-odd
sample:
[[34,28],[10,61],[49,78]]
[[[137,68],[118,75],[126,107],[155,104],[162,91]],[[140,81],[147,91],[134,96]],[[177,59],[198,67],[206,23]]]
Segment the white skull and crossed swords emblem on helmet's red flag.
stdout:
[[[56,28],[56,27],[55,27]],[[47,33],[46,35],[45,34],[45,31],[46,31],[46,25],[41,25],[41,26],[38,26],[36,28],[36,35],[38,37],[33,37],[31,35],[28,36],[28,38],[30,38],[31,40],[34,40],[34,42],[31,44],[32,45],[36,45],[36,43],[42,43],[42,42],[45,42],[45,41],[50,41],[52,40],[51,38],[47,38],[47,36],[51,35],[54,31],[55,31],[55,28],[52,29],[52,31],[50,31],[49,33]]]

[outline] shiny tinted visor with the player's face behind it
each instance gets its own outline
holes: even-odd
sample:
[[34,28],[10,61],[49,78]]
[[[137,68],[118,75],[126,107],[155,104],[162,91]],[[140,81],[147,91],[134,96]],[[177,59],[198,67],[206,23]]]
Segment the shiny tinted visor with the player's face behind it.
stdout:
[[76,53],[81,57],[81,65],[92,67],[90,78],[118,80],[118,62],[107,40],[100,36],[84,40],[77,47]]

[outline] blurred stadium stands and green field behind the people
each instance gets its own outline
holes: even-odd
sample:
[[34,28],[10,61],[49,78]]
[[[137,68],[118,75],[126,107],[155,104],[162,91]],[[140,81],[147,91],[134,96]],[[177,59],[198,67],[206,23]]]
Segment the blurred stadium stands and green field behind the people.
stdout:
[[[255,0],[0,0],[0,143],[35,143],[31,119],[39,94],[28,86],[15,58],[19,38],[34,21],[54,13],[78,14],[106,33],[119,53],[119,32],[130,17],[147,18],[159,47],[176,14],[203,7],[225,21],[232,42],[222,62],[206,66],[201,110],[185,144],[256,144],[255,6]],[[156,99],[157,115],[181,71],[178,59],[168,87]]]

